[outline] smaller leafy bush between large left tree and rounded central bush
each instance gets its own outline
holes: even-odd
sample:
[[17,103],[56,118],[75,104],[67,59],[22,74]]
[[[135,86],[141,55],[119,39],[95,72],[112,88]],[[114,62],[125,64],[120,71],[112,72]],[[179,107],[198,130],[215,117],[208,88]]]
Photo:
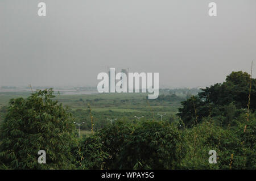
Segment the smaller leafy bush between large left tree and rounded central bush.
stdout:
[[[135,126],[135,125],[134,125]],[[82,166],[88,169],[119,169],[118,157],[126,138],[133,127],[129,123],[116,121],[81,143],[84,161]]]

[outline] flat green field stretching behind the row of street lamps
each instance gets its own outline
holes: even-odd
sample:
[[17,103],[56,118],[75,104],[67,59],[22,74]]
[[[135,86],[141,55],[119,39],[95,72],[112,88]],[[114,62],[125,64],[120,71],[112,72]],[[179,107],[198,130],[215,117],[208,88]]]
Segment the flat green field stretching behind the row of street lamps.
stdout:
[[[30,92],[2,92],[0,95],[0,107],[7,106],[12,98],[26,98]],[[19,95],[16,95],[19,94]],[[168,94],[162,92],[162,94]],[[85,124],[81,126],[81,134],[88,134],[91,130],[91,120],[88,112],[88,105],[92,109],[94,129],[98,130],[110,124],[107,119],[118,119],[123,121],[138,121],[134,116],[144,116],[141,120],[160,120],[157,113],[166,113],[163,120],[174,121],[177,108],[180,107],[180,100],[159,101],[147,99],[146,93],[109,93],[109,94],[83,94],[83,95],[58,95],[53,98],[59,103],[69,108],[75,121]],[[181,100],[185,99],[185,94],[176,93]],[[4,111],[0,117],[3,120]]]

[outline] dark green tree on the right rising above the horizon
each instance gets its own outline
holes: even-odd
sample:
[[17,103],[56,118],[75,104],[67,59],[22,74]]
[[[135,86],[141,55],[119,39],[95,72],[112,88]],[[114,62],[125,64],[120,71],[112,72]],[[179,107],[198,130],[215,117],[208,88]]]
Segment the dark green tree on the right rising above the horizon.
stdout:
[[[251,83],[251,87],[250,87]],[[194,120],[198,122],[203,117],[226,117],[224,124],[230,124],[232,119],[247,109],[250,92],[250,111],[256,109],[256,79],[242,71],[232,72],[223,83],[216,83],[199,92],[198,96],[181,102],[180,116],[185,125],[191,127]],[[230,117],[232,116],[232,117]]]

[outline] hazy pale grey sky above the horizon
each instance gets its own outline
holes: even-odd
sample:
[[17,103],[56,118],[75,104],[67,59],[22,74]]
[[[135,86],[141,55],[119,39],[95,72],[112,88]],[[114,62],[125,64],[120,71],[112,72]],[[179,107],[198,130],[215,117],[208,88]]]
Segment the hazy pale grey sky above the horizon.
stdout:
[[252,60],[255,72],[255,0],[0,1],[0,86],[96,86],[108,66],[208,86]]

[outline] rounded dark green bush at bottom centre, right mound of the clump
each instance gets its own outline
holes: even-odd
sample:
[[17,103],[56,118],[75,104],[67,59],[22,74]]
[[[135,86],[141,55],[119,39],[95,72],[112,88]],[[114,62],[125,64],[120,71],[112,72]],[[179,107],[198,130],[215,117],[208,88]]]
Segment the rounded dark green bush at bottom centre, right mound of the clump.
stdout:
[[119,154],[120,169],[180,169],[183,135],[166,122],[146,121],[127,136]]

